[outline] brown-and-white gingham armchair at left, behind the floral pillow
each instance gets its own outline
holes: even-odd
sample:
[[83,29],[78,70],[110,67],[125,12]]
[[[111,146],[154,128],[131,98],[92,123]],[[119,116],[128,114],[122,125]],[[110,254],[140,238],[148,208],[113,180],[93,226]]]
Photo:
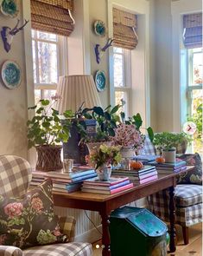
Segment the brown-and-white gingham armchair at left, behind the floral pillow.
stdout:
[[[29,162],[15,155],[0,155],[0,194],[7,197],[22,197],[27,193],[31,181]],[[61,217],[62,233],[68,237],[68,243],[34,246],[21,250],[15,246],[0,246],[0,256],[90,256],[92,245],[73,242],[75,220],[73,217]],[[69,242],[70,241],[70,242]]]

